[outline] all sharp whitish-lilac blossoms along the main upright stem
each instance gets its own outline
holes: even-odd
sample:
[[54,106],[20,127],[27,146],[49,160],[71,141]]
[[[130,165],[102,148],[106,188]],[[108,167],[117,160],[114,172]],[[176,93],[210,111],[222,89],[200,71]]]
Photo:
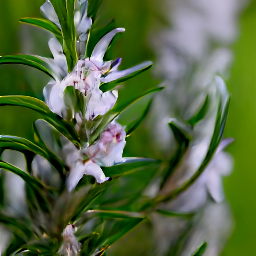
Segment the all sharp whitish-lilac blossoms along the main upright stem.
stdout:
[[[62,138],[62,141],[65,141],[62,145],[63,160],[70,168],[67,180],[70,191],[76,187],[84,174],[94,176],[98,183],[105,182],[108,178],[100,166],[112,166],[122,162],[126,132],[124,127],[116,121],[106,126],[94,144],[87,143],[88,137],[95,129],[91,126],[88,128],[87,122],[106,114],[117,101],[117,92],[111,90],[102,92],[102,84],[127,77],[152,65],[152,62],[144,62],[133,68],[119,71],[121,58],[106,62],[103,60],[110,42],[117,33],[124,32],[124,28],[116,28],[106,34],[96,44],[90,58],[84,58],[85,52],[81,49],[85,48],[88,38],[86,33],[92,25],[91,18],[87,17],[86,8],[87,1],[84,0],[78,1],[75,8],[74,20],[79,41],[76,48],[80,57],[74,69],[68,73],[68,63],[62,45],[56,38],[52,38],[49,41],[49,47],[54,59],[50,60],[50,64],[62,79],[51,80],[44,88],[45,101],[50,110],[65,120],[75,122],[76,131],[82,134],[81,139],[85,142],[82,148],[78,149]],[[60,27],[58,16],[50,1],[44,3],[41,11],[44,17]]]

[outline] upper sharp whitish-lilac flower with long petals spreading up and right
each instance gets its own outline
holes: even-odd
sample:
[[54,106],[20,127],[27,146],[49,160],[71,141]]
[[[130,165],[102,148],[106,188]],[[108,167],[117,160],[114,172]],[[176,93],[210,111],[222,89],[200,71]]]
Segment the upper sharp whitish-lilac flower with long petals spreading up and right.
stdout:
[[[122,77],[146,68],[152,62],[144,62],[133,68],[118,71],[121,58],[114,61],[104,62],[103,57],[106,53],[108,45],[113,37],[119,33],[124,32],[124,28],[116,28],[104,36],[98,44],[96,44],[90,58],[79,60],[74,70],[67,74],[67,63],[64,57],[62,47],[58,40],[51,39],[49,42],[50,49],[54,56],[54,60],[50,62],[54,70],[59,70],[61,75],[65,75],[61,81],[51,81],[44,88],[44,97],[46,104],[50,110],[63,118],[68,118],[68,107],[64,102],[64,90],[67,86],[74,86],[86,96],[86,114],[80,116],[86,120],[93,120],[98,115],[104,115],[116,103],[116,96],[111,91],[102,92],[100,85],[106,82],[112,82]],[[73,118],[75,113],[73,113]]]

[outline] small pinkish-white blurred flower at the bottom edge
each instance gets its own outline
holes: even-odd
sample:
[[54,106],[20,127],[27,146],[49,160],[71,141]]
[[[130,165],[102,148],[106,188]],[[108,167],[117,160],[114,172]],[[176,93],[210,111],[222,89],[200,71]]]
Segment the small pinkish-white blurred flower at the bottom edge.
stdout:
[[59,254],[64,256],[77,256],[81,244],[77,241],[77,238],[74,235],[74,228],[71,224],[66,226],[62,237],[63,244],[59,250]]

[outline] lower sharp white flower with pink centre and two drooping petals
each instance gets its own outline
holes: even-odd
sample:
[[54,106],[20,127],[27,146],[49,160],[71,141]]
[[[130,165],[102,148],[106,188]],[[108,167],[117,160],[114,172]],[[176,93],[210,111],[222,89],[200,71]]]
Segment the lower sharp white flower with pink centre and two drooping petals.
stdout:
[[[102,132],[100,139],[95,144],[79,152],[80,156],[70,148],[70,144],[66,148],[64,147],[66,162],[71,168],[67,180],[68,190],[72,191],[84,174],[94,176],[98,183],[109,180],[100,166],[113,166],[122,162],[125,138],[126,132],[123,127],[113,121]],[[86,154],[89,159],[82,161],[83,154]]]

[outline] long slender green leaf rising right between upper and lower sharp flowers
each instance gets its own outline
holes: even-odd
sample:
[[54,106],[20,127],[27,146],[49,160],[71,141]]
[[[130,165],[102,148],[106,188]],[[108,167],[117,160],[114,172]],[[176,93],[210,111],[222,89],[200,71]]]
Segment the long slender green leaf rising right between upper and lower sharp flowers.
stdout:
[[144,96],[146,96],[148,94],[151,94],[153,92],[159,92],[162,89],[164,89],[164,87],[158,87],[158,88],[151,89],[151,90],[145,92],[144,94],[142,94],[140,96],[136,96],[136,97],[134,97],[130,100],[126,100],[124,102],[121,102],[120,100],[117,100],[114,107],[112,109],[110,109],[102,117],[102,120],[101,120],[100,124],[98,124],[98,127],[96,128],[96,130],[90,135],[89,144],[92,144],[94,142],[94,140],[96,140],[96,138],[98,138],[100,133],[108,126],[108,124],[112,120],[114,120],[120,113],[122,113],[126,108],[128,108],[128,106],[130,106],[132,103],[136,102],[140,98],[143,98]]

